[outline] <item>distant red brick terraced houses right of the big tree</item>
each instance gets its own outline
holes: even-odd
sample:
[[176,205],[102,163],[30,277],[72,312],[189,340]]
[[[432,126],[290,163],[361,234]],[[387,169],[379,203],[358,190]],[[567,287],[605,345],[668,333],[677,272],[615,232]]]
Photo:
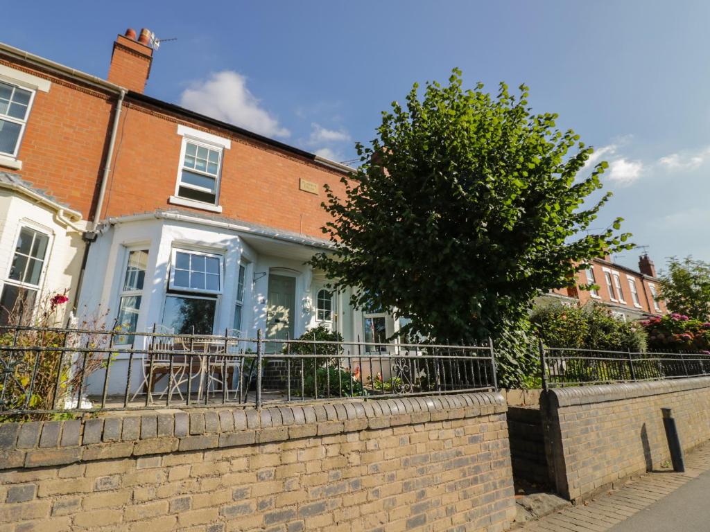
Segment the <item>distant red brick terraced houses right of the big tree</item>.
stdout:
[[[649,314],[666,314],[665,302],[658,298],[656,269],[648,255],[639,257],[638,270],[616,264],[608,255],[594,259],[591,267],[577,274],[576,286],[553,290],[540,297],[540,302],[600,303],[608,306],[617,316],[631,320]],[[581,286],[589,284],[599,288],[581,289]]]

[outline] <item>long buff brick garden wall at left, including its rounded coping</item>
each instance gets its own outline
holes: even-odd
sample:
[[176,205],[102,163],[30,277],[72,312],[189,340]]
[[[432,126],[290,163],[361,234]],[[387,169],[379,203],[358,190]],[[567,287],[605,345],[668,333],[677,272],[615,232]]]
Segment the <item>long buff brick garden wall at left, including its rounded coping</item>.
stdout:
[[502,531],[500,394],[0,425],[0,531]]

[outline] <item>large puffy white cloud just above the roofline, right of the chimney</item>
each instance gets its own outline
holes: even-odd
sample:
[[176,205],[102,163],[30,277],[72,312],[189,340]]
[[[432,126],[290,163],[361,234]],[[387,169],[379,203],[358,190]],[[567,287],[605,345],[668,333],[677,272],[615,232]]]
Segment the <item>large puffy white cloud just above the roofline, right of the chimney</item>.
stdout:
[[251,94],[246,77],[231,70],[213,72],[209,79],[190,85],[182,92],[180,105],[268,137],[290,135]]

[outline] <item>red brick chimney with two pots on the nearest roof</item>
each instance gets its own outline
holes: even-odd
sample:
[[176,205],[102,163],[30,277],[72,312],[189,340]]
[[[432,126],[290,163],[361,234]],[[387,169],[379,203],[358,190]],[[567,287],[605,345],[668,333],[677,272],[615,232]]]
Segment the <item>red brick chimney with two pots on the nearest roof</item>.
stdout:
[[142,93],[146,89],[152,61],[151,31],[143,28],[136,40],[136,31],[129,28],[125,35],[119,35],[114,42],[109,82]]

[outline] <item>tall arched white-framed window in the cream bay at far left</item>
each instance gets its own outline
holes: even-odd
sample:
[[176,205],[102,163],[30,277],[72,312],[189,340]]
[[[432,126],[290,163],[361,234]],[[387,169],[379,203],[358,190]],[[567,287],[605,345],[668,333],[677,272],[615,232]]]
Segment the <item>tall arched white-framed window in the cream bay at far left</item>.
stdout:
[[45,233],[26,226],[20,228],[10,271],[0,292],[0,325],[26,323],[31,318],[49,241]]

